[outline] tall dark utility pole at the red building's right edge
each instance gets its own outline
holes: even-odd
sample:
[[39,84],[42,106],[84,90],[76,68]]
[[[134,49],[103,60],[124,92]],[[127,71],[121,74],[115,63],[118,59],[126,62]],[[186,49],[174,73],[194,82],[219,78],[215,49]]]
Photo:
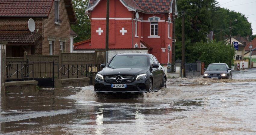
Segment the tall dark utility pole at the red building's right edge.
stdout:
[[173,5],[172,5],[172,22],[173,22],[173,37],[172,37],[172,67],[171,67],[171,72],[174,73],[174,68],[175,68],[175,3],[176,0],[173,0]]

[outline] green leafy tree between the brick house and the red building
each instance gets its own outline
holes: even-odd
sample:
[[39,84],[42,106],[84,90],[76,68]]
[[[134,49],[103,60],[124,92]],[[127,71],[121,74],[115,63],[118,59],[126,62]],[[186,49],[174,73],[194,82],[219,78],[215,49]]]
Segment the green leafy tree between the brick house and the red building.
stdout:
[[73,9],[76,13],[77,24],[71,25],[71,29],[78,35],[74,43],[91,38],[91,22],[89,16],[85,15],[85,9],[89,0],[73,0]]

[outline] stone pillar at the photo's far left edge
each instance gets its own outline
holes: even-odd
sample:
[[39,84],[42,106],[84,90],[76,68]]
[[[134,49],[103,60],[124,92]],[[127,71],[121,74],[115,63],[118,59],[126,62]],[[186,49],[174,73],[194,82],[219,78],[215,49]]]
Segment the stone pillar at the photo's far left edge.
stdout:
[[7,44],[7,41],[0,41],[0,73],[1,73],[1,86],[0,86],[0,93],[5,93],[5,45]]

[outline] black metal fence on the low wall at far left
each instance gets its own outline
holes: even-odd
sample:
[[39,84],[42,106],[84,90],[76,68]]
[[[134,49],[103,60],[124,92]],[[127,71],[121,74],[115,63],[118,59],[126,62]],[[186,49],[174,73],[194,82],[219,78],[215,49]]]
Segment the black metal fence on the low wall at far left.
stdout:
[[33,80],[34,65],[27,63],[5,64],[5,77],[7,80]]

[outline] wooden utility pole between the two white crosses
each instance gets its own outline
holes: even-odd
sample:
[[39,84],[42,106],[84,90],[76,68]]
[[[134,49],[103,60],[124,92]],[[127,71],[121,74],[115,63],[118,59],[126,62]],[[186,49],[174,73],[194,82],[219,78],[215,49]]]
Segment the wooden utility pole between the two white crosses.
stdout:
[[107,0],[107,14],[106,14],[106,64],[108,63],[108,24],[109,24],[109,0]]

